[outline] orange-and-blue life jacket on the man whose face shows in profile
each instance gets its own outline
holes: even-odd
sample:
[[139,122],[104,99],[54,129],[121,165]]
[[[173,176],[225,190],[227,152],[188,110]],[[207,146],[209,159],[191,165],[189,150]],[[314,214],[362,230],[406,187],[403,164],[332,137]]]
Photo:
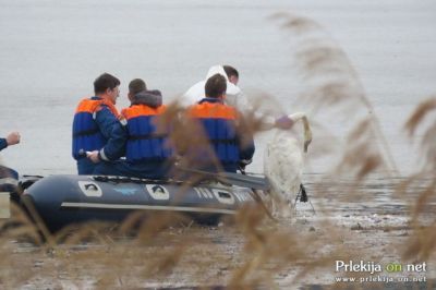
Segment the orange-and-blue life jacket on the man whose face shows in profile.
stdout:
[[93,97],[83,99],[75,111],[73,120],[73,157],[78,160],[84,156],[80,155],[81,150],[92,152],[101,149],[107,143],[106,137],[101,134],[94,114],[100,109],[100,106],[107,106],[109,110],[118,117],[118,110],[112,102],[106,99]]

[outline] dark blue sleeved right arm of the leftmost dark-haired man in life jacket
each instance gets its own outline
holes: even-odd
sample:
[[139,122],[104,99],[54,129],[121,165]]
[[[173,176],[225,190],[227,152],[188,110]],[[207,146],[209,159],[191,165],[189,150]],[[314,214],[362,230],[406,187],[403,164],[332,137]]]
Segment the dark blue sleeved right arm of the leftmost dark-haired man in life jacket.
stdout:
[[96,112],[95,121],[100,129],[101,134],[108,140],[108,142],[105,147],[98,152],[97,156],[96,153],[93,153],[93,156],[89,158],[93,161],[110,161],[123,156],[126,133],[117,117],[113,116],[108,107],[101,106],[101,109]]

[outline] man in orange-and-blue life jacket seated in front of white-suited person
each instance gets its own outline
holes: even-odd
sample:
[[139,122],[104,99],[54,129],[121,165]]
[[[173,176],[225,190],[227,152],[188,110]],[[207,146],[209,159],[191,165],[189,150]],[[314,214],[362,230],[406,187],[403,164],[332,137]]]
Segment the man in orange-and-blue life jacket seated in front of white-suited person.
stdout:
[[237,172],[242,160],[253,158],[255,148],[253,136],[239,130],[241,114],[225,104],[226,90],[226,77],[219,73],[214,74],[206,81],[206,97],[187,109],[187,116],[201,124],[209,142],[207,147],[211,147],[213,152],[210,155],[207,147],[195,148],[190,150],[193,154],[190,158],[198,161],[198,167],[206,170],[216,170],[216,158],[225,171]]

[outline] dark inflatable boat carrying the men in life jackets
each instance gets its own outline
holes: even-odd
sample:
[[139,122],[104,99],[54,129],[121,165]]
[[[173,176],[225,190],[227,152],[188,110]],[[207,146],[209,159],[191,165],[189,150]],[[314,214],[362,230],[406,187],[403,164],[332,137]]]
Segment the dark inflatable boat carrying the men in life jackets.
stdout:
[[22,203],[32,203],[50,231],[90,220],[120,222],[134,210],[178,212],[215,223],[255,200],[250,188],[218,182],[187,186],[177,181],[50,176],[22,184]]

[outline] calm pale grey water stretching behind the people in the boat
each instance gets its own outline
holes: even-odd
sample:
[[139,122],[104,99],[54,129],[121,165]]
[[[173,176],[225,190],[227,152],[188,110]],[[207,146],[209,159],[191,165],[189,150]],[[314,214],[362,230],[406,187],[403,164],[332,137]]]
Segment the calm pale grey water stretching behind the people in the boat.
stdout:
[[[268,92],[288,113],[307,89],[292,67],[289,36],[276,12],[319,22],[348,53],[382,119],[402,172],[419,157],[401,132],[419,100],[436,92],[436,2],[370,1],[0,1],[1,130],[22,133],[22,144],[1,153],[21,173],[73,173],[71,123],[93,81],[109,72],[122,81],[118,107],[128,106],[134,77],[170,101],[229,63],[243,89]],[[310,113],[310,112],[308,112]],[[341,123],[327,124],[339,137]],[[257,141],[250,171],[262,172],[265,142]],[[314,137],[316,142],[316,135]],[[326,165],[314,161],[308,171]]]

